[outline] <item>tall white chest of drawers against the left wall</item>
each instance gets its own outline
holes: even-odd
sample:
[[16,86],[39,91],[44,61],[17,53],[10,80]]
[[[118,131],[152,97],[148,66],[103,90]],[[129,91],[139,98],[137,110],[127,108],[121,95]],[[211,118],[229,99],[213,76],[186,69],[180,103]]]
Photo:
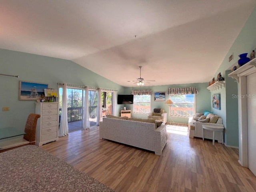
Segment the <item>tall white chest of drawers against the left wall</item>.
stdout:
[[41,115],[36,125],[36,145],[58,140],[58,102],[36,103],[36,114]]

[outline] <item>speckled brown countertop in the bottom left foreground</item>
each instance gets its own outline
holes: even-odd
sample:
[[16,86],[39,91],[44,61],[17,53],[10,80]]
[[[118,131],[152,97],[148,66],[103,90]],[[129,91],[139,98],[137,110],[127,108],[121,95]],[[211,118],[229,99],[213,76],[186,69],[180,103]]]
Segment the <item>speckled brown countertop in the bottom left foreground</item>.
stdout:
[[1,192],[113,192],[35,145],[0,153]]

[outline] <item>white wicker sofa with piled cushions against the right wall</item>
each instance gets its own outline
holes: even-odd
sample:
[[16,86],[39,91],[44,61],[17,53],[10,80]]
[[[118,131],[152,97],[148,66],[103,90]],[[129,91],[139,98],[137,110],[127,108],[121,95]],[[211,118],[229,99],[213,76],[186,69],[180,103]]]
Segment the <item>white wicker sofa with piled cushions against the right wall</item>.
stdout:
[[[205,118],[203,117],[203,119],[200,119],[202,116],[204,116],[203,113],[196,113],[196,115],[194,115],[193,117],[190,117],[188,119],[188,128],[189,128],[189,137],[190,138],[194,138],[194,137],[202,138],[202,136],[203,136],[202,125],[223,126],[222,118],[220,118],[217,115],[209,113],[209,114],[207,114],[207,116],[205,116]],[[206,119],[209,119],[209,121]],[[206,121],[206,122],[204,122],[204,121]],[[222,143],[221,134],[222,134],[222,132],[215,132],[215,136],[214,136],[215,140],[218,140],[219,143]],[[212,139],[212,131],[204,130],[204,138]]]

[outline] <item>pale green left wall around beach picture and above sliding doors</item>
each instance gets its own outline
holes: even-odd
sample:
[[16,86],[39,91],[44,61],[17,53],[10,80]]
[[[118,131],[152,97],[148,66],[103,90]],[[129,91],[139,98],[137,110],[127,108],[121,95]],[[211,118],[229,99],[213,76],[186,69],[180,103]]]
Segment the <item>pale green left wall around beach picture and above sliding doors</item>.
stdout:
[[[19,78],[0,76],[0,128],[14,126],[24,129],[28,114],[35,112],[34,101],[19,101],[19,81],[48,84],[57,89],[57,83],[118,90],[124,87],[70,60],[0,49],[0,73],[18,75]],[[2,107],[10,107],[3,112]],[[116,105],[116,115],[120,106]]]

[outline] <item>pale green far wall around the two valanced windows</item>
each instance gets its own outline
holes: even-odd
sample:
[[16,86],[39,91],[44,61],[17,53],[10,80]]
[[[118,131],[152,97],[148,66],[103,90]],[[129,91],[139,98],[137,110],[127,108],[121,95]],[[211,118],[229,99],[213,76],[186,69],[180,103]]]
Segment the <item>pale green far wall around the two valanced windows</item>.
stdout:
[[[178,87],[197,87],[199,94],[196,95],[196,112],[204,112],[204,110],[210,110],[210,92],[206,89],[208,83],[192,83],[192,84],[175,84],[175,85],[163,85],[163,86],[142,86],[142,87],[129,87],[125,89],[126,94],[131,94],[132,90],[138,89],[151,89],[152,92],[166,92],[166,100],[168,99],[168,88]],[[132,105],[126,105],[131,108],[132,117],[134,118],[146,118],[146,114],[133,113]],[[163,108],[166,112],[169,111],[168,104],[165,101],[154,101],[154,95],[151,96],[151,110],[154,108]],[[168,113],[169,115],[169,113]],[[188,118],[173,117],[172,120],[177,123],[188,123]]]

